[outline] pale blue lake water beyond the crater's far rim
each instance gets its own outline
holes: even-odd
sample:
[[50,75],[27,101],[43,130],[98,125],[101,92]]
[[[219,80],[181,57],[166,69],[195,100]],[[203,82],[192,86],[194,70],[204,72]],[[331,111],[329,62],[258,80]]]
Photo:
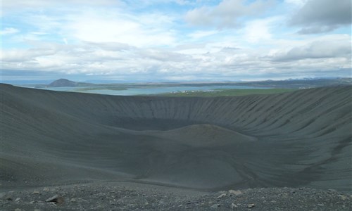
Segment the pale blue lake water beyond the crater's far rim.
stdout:
[[[180,91],[214,91],[216,89],[268,89],[268,88],[259,88],[259,87],[246,87],[246,86],[224,86],[224,85],[215,85],[215,86],[201,86],[201,87],[123,87],[125,90],[110,90],[106,87],[53,87],[53,88],[42,88],[53,91],[75,91],[75,92],[84,92],[84,93],[93,93],[93,94],[109,94],[109,95],[122,95],[122,96],[132,96],[140,94],[163,94],[171,92],[180,92]],[[80,90],[80,89],[94,89],[94,90]]]

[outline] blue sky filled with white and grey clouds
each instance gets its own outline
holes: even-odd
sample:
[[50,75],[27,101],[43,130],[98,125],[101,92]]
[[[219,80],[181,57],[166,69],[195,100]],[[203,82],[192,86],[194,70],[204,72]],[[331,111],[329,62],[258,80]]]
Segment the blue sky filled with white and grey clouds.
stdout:
[[351,0],[4,0],[1,82],[351,77]]

